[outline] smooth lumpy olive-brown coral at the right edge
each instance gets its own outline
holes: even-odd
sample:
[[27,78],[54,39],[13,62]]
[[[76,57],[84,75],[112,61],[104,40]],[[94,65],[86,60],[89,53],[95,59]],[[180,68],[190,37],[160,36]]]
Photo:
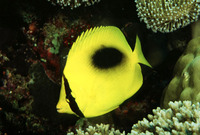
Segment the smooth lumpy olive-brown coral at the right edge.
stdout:
[[200,37],[192,39],[174,67],[174,78],[165,88],[162,106],[169,101],[190,100],[200,102]]

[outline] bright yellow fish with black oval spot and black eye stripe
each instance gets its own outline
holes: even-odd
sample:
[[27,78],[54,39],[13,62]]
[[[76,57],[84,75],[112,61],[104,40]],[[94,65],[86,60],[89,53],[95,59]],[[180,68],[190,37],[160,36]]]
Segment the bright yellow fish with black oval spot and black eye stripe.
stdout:
[[119,107],[143,84],[145,59],[139,37],[134,50],[116,26],[98,26],[73,43],[62,75],[58,113],[97,117]]

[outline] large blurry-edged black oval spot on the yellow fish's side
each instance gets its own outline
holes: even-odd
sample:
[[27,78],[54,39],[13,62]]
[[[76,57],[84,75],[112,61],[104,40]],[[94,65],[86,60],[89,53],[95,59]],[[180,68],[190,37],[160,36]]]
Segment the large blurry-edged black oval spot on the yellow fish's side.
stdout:
[[108,69],[119,65],[124,55],[112,47],[104,47],[97,50],[92,56],[92,63],[100,69]]

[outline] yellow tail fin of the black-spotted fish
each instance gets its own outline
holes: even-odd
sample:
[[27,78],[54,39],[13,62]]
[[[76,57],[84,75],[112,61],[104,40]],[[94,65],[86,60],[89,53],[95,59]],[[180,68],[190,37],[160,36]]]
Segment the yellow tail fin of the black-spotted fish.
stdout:
[[133,51],[132,58],[136,59],[138,63],[151,67],[142,53],[141,43],[138,35],[136,35],[135,49]]

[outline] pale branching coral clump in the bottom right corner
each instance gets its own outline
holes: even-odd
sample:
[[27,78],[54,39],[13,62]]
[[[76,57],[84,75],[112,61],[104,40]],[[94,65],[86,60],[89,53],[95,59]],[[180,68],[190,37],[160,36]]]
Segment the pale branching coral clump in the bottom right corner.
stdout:
[[139,121],[132,127],[131,135],[149,134],[174,134],[188,135],[200,134],[200,103],[192,104],[191,101],[169,102],[169,109],[153,110],[154,115]]

